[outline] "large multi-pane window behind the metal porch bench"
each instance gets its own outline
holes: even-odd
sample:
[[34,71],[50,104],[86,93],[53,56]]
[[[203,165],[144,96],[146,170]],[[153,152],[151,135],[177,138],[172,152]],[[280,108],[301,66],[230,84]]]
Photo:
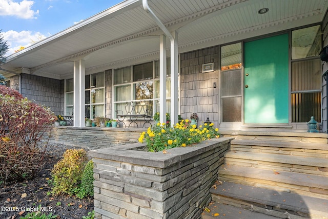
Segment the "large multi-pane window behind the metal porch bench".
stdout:
[[[170,75],[167,62],[167,76]],[[113,75],[114,117],[116,110],[125,112],[126,102],[153,101],[154,112],[159,111],[159,61],[115,69]],[[170,78],[167,78],[167,109],[170,109]],[[169,112],[169,110],[168,110]]]

